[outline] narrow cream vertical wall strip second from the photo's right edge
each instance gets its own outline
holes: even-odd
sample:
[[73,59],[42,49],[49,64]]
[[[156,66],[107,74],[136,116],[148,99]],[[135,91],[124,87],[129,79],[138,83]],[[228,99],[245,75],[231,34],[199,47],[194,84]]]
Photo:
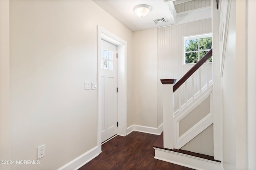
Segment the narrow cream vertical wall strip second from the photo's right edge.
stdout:
[[247,169],[246,0],[236,1],[236,168]]

